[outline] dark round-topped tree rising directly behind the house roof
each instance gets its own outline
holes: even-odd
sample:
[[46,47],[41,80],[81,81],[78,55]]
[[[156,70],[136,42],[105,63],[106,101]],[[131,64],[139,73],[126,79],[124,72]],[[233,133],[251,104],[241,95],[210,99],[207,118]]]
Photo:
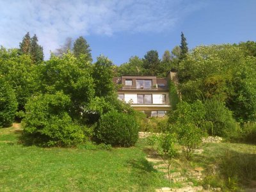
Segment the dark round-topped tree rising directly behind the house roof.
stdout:
[[156,50],[148,51],[143,58],[143,67],[147,70],[148,74],[156,75],[159,68],[160,60]]

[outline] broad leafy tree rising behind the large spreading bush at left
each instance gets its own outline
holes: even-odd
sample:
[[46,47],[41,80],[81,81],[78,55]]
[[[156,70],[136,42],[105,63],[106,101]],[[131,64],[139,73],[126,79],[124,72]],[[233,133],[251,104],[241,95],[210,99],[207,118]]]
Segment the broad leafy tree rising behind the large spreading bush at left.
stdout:
[[84,63],[84,60],[68,53],[62,58],[52,56],[39,70],[41,92],[63,92],[68,95],[72,102],[70,115],[81,120],[86,106],[95,93],[90,63]]

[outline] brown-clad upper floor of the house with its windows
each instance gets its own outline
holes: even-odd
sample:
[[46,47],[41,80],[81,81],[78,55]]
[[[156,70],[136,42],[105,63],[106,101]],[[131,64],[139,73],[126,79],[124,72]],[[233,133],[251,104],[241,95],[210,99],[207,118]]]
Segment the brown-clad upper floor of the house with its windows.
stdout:
[[119,90],[134,91],[168,91],[167,78],[156,76],[121,76],[113,79],[120,84]]

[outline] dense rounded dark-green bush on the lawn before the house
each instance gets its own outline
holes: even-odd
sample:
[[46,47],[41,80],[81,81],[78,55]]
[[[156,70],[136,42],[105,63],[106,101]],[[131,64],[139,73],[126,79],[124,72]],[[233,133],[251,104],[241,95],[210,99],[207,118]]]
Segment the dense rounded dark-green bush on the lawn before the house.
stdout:
[[134,116],[109,111],[101,116],[96,135],[103,143],[131,147],[138,140],[138,131],[138,122],[134,120]]

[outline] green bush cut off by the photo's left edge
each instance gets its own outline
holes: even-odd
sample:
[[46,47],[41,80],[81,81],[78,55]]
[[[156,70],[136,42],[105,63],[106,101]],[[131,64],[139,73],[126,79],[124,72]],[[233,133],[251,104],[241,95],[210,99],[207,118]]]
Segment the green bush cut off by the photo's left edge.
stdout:
[[0,127],[12,125],[17,106],[14,90],[0,76]]

